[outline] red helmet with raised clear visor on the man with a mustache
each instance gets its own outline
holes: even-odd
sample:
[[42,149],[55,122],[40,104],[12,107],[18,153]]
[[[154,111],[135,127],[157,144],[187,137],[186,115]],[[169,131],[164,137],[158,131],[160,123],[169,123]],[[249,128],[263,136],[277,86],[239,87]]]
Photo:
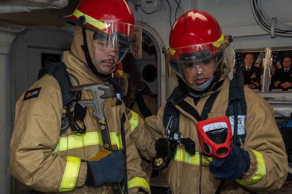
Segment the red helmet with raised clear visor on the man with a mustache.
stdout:
[[83,0],[72,15],[59,19],[81,25],[111,40],[110,48],[103,47],[105,49],[113,47],[114,50],[131,52],[136,58],[141,58],[142,30],[135,25],[133,12],[125,0]]

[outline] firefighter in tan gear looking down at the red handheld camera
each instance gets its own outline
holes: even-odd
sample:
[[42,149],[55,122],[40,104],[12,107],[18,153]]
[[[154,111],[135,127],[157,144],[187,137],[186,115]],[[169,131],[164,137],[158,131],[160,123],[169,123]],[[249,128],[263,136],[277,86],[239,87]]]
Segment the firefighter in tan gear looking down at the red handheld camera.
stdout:
[[[158,153],[156,140],[165,138],[173,129],[181,142],[183,138],[194,141],[192,155],[184,143],[176,144],[173,150],[167,170],[172,194],[210,194],[218,188],[222,194],[262,193],[281,188],[288,175],[285,146],[274,110],[265,99],[244,87],[241,71],[237,79],[233,78],[238,83],[228,77],[231,41],[232,37],[223,35],[215,18],[204,11],[187,11],[171,29],[167,65],[178,77],[179,85],[157,116],[145,118],[147,127],[134,130],[131,138],[148,159]],[[233,94],[239,94],[239,100],[234,101],[241,103],[237,111],[233,111],[234,106],[231,109]],[[178,120],[166,119],[169,104],[179,112]],[[199,154],[202,148],[196,123],[223,116],[229,116],[232,123],[235,115],[239,127],[232,150],[225,158],[207,158],[209,162]],[[157,159],[154,164],[163,162]]]

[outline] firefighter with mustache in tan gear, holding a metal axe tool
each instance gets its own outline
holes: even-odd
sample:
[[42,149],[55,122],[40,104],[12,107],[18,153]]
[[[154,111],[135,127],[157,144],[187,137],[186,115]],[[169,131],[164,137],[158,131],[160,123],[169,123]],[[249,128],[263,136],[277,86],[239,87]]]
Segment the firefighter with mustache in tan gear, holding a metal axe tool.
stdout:
[[[84,112],[86,132],[77,132],[73,125],[62,131],[70,107],[64,107],[64,82],[58,78],[66,81],[67,76],[71,87],[112,84],[117,96],[121,89],[109,76],[126,52],[140,58],[141,29],[135,25],[131,8],[124,0],[83,0],[72,15],[59,19],[75,26],[71,51],[63,53],[61,63],[50,64],[53,71],[48,69],[48,74],[16,103],[9,173],[36,193],[112,194],[126,178],[123,186],[127,185],[129,194],[150,193],[149,179],[141,170],[141,159],[130,139],[131,126],[136,126],[137,120],[132,119],[122,99],[109,97],[103,103],[112,151],[104,149],[91,106],[85,111],[79,109]],[[61,77],[59,67],[66,69]],[[82,90],[79,100],[85,99],[93,99],[92,92]]]

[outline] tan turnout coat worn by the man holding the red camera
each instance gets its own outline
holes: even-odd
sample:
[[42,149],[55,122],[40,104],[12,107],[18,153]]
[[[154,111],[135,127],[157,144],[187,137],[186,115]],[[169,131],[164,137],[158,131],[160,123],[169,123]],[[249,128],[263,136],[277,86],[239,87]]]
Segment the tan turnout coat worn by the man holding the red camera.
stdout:
[[[218,89],[221,91],[215,99],[211,112],[208,113],[208,119],[226,116],[230,79],[226,75],[221,79],[225,80]],[[201,115],[211,93],[208,92],[197,105],[189,97],[185,101]],[[284,142],[274,120],[274,110],[263,97],[251,89],[244,87],[244,94],[247,103],[246,139],[245,143],[241,144],[241,148],[248,151],[251,165],[248,172],[237,181],[225,181],[221,194],[243,194],[251,191],[262,193],[278,189],[288,175]],[[164,137],[165,127],[162,122],[164,107],[165,104],[159,109],[157,116],[145,119],[148,128],[144,127],[143,130],[134,130],[131,133],[131,138],[145,157],[152,158],[156,155],[155,140]],[[197,120],[180,107],[176,106],[176,108],[180,111],[179,130],[184,138],[189,137],[196,143],[197,153],[190,156],[185,152],[184,146],[178,145],[175,159],[171,160],[167,170],[171,193],[215,193],[220,181],[213,178],[213,174],[208,169],[208,162],[198,154],[202,149],[197,136]]]

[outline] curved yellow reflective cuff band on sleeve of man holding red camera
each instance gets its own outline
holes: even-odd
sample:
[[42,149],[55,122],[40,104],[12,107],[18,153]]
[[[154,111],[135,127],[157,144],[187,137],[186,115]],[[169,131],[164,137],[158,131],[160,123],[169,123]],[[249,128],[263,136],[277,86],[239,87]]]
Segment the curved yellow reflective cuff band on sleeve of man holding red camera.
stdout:
[[266,175],[266,163],[263,158],[263,154],[254,150],[251,150],[251,151],[253,151],[253,153],[256,155],[256,161],[257,161],[258,166],[257,166],[255,175],[252,177],[250,181],[246,182],[246,181],[241,181],[240,179],[236,180],[236,182],[242,185],[250,185],[252,183],[256,183],[260,181],[260,179],[262,179]]

